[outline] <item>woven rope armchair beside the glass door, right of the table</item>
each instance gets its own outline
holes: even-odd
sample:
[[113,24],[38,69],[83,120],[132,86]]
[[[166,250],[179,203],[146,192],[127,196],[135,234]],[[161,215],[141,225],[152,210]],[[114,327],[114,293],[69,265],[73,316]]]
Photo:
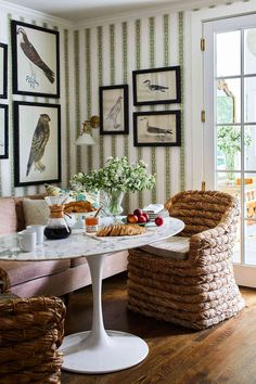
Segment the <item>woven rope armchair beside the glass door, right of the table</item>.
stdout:
[[[217,191],[187,191],[165,204],[184,221],[185,259],[157,255],[149,246],[129,251],[128,308],[192,329],[204,329],[236,315],[244,300],[234,281],[232,251],[238,201]],[[151,247],[151,246],[150,246]]]

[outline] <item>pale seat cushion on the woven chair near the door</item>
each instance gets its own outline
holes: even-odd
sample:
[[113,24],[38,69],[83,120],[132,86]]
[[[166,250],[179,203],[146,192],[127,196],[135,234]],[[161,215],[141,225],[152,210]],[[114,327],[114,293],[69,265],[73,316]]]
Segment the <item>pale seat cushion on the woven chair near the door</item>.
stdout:
[[144,245],[141,249],[154,256],[170,257],[175,260],[187,260],[190,248],[190,238],[171,236]]

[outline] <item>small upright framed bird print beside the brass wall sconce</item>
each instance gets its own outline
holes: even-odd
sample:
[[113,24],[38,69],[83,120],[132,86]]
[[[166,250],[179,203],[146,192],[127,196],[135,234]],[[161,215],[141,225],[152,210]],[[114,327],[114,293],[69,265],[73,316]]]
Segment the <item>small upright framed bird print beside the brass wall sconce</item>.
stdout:
[[100,87],[99,91],[100,135],[128,135],[128,85]]

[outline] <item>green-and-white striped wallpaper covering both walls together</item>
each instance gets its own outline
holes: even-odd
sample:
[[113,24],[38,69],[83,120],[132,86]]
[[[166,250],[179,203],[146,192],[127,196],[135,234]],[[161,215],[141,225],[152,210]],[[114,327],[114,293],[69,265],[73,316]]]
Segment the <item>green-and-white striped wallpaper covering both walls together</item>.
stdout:
[[[54,28],[60,31],[61,51],[61,98],[44,99],[12,94],[10,21]],[[135,148],[132,113],[149,111],[148,106],[133,106],[132,71],[169,65],[183,65],[183,13],[156,14],[150,17],[127,18],[111,24],[73,30],[68,25],[53,23],[42,17],[28,17],[4,10],[0,15],[0,41],[9,44],[9,159],[0,161],[0,195],[24,195],[43,191],[43,185],[14,188],[13,116],[14,100],[50,102],[61,104],[62,129],[62,185],[66,187],[71,176],[79,170],[88,171],[103,166],[111,155],[126,155],[130,162],[142,158],[149,170],[156,172],[157,183],[152,191],[126,194],[125,210],[151,202],[165,202],[170,194],[185,189],[185,120],[183,103],[179,105],[155,105],[155,111],[181,108],[181,148]],[[182,67],[183,71],[183,67]],[[183,73],[181,71],[181,73]],[[94,146],[75,146],[81,124],[91,115],[99,115],[99,87],[129,85],[129,135],[92,135]],[[182,84],[182,94],[185,85]]]

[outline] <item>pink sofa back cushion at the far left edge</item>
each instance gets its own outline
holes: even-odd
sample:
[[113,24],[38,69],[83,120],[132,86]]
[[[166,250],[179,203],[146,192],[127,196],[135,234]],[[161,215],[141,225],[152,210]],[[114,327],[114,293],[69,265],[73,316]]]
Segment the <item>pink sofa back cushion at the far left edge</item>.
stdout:
[[16,232],[15,202],[12,197],[0,199],[0,234]]

